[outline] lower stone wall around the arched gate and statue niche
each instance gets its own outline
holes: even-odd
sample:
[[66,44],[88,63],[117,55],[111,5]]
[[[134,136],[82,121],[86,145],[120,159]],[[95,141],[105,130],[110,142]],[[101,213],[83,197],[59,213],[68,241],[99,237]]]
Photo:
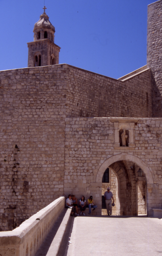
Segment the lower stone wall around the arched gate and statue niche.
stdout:
[[[103,173],[98,174],[101,165],[112,156],[114,162],[119,161],[119,157],[133,162],[132,156],[136,156],[135,164],[140,166],[142,160],[145,166],[140,167],[147,180],[148,214],[152,215],[153,207],[161,207],[162,119],[138,118],[134,129],[135,147],[116,148],[111,118],[66,118],[65,194],[72,193],[77,198],[85,195],[86,199],[92,195],[98,205],[96,214],[101,214]],[[104,170],[107,167],[104,164]]]

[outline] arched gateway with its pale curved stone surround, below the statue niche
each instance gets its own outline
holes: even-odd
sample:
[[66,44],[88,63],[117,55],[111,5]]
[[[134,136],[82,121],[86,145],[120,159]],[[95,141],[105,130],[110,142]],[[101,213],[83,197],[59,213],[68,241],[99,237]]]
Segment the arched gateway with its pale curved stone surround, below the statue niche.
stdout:
[[[107,175],[109,179],[105,182]],[[147,215],[147,184],[153,184],[153,178],[150,169],[138,157],[119,154],[107,159],[98,170],[96,182],[102,182],[102,215],[107,215],[103,197],[107,187],[114,195],[113,215]]]

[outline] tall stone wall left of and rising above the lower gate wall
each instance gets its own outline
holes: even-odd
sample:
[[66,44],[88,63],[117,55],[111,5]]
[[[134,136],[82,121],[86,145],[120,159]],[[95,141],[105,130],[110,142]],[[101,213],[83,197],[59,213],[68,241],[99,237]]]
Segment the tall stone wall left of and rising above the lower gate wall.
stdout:
[[150,70],[125,82],[69,65],[1,71],[0,92],[1,230],[64,194],[66,117],[152,113]]

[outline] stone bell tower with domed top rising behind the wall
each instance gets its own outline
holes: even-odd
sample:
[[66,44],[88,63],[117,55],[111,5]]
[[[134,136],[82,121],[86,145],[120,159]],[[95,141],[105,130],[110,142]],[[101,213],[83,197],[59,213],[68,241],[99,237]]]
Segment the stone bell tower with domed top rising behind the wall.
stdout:
[[28,67],[40,67],[59,64],[60,47],[54,43],[55,27],[44,12],[34,25],[34,41],[28,42]]

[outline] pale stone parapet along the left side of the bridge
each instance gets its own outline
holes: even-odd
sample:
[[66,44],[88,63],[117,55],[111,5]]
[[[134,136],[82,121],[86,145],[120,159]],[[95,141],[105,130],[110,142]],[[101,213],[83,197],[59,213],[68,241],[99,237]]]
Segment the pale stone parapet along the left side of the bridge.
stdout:
[[0,232],[0,255],[34,256],[64,207],[60,197],[14,230]]

